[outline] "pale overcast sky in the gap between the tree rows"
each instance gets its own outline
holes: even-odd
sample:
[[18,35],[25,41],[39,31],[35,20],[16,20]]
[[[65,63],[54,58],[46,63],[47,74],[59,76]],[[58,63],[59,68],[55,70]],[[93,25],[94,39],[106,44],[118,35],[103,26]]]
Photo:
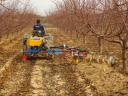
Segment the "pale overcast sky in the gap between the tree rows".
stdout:
[[53,0],[30,0],[36,13],[40,15],[45,15],[49,10],[55,8]]

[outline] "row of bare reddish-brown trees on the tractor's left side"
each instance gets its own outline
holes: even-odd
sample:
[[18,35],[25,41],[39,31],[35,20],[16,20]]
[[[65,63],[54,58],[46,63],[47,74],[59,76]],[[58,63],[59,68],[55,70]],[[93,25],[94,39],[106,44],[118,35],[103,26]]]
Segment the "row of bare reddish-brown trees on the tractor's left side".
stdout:
[[21,31],[32,24],[33,11],[29,0],[0,0],[0,37]]

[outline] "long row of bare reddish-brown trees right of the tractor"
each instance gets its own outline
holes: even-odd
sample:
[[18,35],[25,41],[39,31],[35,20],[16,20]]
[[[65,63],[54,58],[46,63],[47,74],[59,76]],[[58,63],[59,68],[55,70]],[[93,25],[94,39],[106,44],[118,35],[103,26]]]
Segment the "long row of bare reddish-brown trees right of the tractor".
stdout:
[[103,40],[120,45],[123,70],[126,71],[127,0],[62,0],[55,4],[56,10],[48,15],[50,22],[78,38],[97,38],[100,53]]

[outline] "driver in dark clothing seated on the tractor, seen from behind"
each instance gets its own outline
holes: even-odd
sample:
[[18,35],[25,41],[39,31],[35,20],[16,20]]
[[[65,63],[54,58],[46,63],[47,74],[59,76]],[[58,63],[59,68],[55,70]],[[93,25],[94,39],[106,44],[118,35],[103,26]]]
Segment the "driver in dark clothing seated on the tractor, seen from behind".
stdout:
[[33,35],[39,37],[45,36],[44,26],[40,23],[39,19],[36,21],[36,24],[33,26]]

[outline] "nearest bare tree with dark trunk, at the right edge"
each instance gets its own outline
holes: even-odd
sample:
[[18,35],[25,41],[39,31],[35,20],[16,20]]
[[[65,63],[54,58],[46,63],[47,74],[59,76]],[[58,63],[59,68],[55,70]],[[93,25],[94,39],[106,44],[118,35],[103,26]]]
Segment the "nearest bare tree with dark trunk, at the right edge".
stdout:
[[113,13],[116,18],[114,19],[117,29],[116,35],[109,38],[108,41],[120,44],[122,52],[123,70],[127,70],[126,51],[128,49],[128,1],[127,0],[113,0]]

